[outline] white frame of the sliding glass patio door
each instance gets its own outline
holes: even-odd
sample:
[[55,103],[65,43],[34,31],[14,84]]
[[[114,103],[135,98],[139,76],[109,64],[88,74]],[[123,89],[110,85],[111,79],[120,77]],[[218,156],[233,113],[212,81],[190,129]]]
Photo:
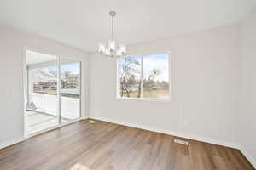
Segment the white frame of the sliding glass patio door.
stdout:
[[[42,53],[42,54],[49,54],[49,53],[45,53],[42,50],[38,50],[38,49],[34,49],[34,48],[24,48],[23,49],[23,53],[22,53],[22,61],[23,61],[23,90],[24,90],[24,109],[23,109],[23,133],[24,133],[24,137],[25,138],[30,138],[32,136],[38,135],[40,133],[45,133],[48,132],[50,130],[53,130],[55,128],[58,127],[63,127],[63,126],[67,126],[68,124],[71,124],[73,122],[78,122],[80,120],[82,120],[82,104],[83,104],[83,96],[84,96],[84,83],[83,83],[83,74],[82,74],[82,60],[81,59],[77,59],[77,58],[72,58],[72,57],[66,57],[66,56],[62,56],[60,54],[50,54],[56,57],[57,59],[57,121],[58,121],[58,125],[53,126],[53,127],[49,127],[46,128],[42,131],[38,131],[36,133],[31,133],[28,134],[26,133],[26,103],[28,102],[28,93],[27,93],[27,88],[28,88],[28,71],[26,68],[26,51],[34,51],[34,52],[38,52],[38,53]],[[68,122],[63,122],[61,123],[61,59],[71,59],[73,61],[77,61],[79,62],[79,76],[80,76],[80,90],[79,90],[79,118],[73,119],[71,121]]]

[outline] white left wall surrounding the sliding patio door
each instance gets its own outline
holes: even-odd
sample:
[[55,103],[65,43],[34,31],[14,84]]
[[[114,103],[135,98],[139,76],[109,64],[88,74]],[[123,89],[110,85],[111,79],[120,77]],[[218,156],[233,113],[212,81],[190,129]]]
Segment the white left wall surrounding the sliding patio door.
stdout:
[[0,26],[0,148],[23,137],[23,53],[30,48],[82,60],[83,114],[89,110],[89,54],[42,37]]

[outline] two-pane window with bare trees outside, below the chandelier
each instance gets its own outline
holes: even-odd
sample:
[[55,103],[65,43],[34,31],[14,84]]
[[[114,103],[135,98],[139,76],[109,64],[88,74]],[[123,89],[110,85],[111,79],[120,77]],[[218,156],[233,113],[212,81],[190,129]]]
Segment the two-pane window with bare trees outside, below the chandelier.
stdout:
[[170,99],[169,55],[119,58],[119,98]]

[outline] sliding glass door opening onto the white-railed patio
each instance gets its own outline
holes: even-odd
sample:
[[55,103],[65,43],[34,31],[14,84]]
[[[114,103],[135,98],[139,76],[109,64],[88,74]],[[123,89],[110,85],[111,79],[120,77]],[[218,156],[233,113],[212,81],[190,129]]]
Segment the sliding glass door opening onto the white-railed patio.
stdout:
[[80,61],[26,51],[26,133],[80,117]]

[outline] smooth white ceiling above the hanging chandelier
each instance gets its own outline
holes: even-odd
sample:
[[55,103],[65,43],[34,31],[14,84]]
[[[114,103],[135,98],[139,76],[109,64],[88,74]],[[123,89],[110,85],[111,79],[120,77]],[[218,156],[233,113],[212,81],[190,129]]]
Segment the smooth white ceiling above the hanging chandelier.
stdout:
[[95,51],[110,34],[132,44],[242,20],[256,0],[1,0],[0,24]]

